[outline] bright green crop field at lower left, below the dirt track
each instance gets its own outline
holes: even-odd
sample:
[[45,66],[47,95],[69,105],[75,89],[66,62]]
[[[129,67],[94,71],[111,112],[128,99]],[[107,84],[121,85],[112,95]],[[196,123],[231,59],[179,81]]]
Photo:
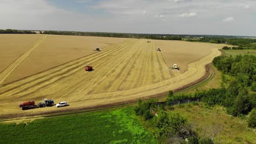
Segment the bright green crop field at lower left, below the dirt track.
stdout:
[[133,107],[29,123],[0,124],[0,144],[16,143],[156,143],[135,116]]

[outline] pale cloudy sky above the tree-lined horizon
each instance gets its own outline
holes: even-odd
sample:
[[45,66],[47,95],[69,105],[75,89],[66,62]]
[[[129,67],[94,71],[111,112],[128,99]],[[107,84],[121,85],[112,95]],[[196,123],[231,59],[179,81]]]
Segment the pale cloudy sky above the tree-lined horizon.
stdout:
[[0,0],[0,29],[256,36],[256,0]]

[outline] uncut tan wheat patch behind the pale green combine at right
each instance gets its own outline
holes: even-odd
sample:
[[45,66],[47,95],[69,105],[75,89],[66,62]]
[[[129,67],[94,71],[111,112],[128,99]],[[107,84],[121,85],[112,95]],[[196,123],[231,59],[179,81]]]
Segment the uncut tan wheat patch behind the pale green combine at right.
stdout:
[[198,61],[211,53],[209,49],[220,48],[220,44],[195,43],[184,41],[154,40],[157,48],[162,50],[168,66],[174,63],[181,67],[180,72],[187,70],[187,64]]

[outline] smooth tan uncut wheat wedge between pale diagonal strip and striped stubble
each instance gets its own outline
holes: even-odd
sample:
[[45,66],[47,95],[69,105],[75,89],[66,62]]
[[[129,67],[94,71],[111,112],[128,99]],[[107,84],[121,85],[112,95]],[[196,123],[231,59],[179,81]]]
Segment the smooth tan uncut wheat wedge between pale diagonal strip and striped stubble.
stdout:
[[[33,36],[38,37],[38,35]],[[39,37],[41,36],[47,36],[47,38],[27,56],[5,83],[95,53],[96,51],[93,51],[93,49],[96,47],[104,48],[127,40],[125,38],[91,36],[40,35]]]

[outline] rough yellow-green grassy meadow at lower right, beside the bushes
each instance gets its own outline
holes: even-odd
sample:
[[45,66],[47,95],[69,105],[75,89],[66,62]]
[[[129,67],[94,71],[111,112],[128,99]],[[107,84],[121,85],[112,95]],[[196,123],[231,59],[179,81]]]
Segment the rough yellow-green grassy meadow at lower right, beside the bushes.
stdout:
[[203,105],[202,102],[199,105],[176,105],[174,111],[187,118],[201,137],[212,137],[215,134],[216,144],[256,143],[256,130],[248,128],[246,120],[227,115],[221,106],[207,109]]

